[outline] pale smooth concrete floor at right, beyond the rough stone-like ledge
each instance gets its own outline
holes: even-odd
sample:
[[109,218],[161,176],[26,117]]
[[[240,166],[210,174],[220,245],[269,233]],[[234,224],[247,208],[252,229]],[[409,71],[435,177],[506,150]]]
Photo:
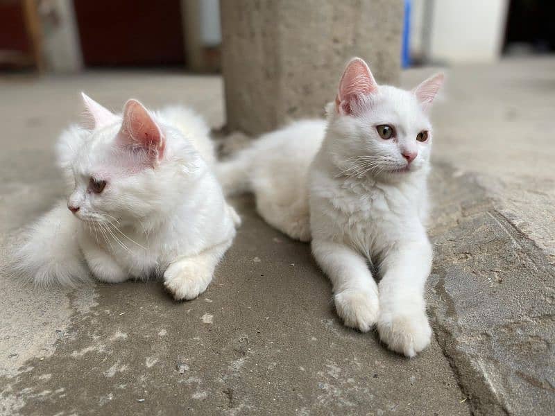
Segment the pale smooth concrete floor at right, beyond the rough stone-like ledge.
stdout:
[[[429,73],[407,71],[403,83]],[[436,160],[475,175],[495,209],[555,265],[555,60],[455,67],[444,97],[434,109]]]

